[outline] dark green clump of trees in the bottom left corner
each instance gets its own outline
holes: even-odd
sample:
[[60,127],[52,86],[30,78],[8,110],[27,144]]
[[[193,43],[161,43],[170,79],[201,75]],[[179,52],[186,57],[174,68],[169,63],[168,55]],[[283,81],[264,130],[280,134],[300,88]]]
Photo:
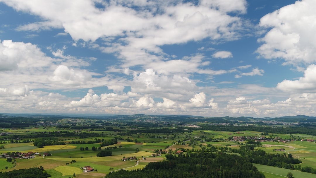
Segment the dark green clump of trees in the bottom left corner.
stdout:
[[43,172],[43,167],[40,168],[29,168],[29,169],[19,169],[9,172],[0,172],[1,178],[25,178],[25,177],[36,177],[36,178],[46,178],[50,177],[47,172]]

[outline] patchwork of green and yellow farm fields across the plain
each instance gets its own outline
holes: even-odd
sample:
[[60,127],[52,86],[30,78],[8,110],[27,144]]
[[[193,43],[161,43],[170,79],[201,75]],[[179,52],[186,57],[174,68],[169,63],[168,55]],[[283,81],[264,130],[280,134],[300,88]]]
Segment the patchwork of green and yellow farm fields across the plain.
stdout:
[[[33,152],[36,155],[30,159],[17,157],[12,162],[0,159],[0,171],[42,166],[53,178],[68,178],[73,174],[77,177],[101,178],[119,169],[143,169],[148,163],[164,161],[167,154],[174,154],[179,150],[184,153],[203,150],[240,155],[235,150],[247,145],[249,139],[261,142],[259,146],[253,148],[254,151],[263,150],[267,154],[290,154],[302,162],[299,164],[301,168],[316,169],[316,144],[313,141],[315,136],[311,134],[268,133],[254,130],[203,130],[204,126],[209,127],[205,120],[169,120],[168,122],[161,121],[160,124],[156,120],[147,122],[144,119],[145,121],[142,121],[142,117],[146,117],[144,115],[134,117],[136,119],[119,121],[82,118],[40,119],[28,127],[3,128],[0,131],[2,132],[1,155],[12,152],[19,154]],[[90,126],[86,123],[90,123]],[[184,123],[189,123],[194,127],[182,126]],[[290,125],[280,126],[282,129],[290,127]],[[227,128],[231,129],[230,126]],[[251,127],[241,126],[240,129],[242,128]],[[58,143],[58,145],[45,145],[41,148],[34,146],[34,140],[41,139],[46,139],[49,143]],[[115,143],[101,146],[109,140],[115,140]],[[284,151],[276,151],[280,149]],[[97,153],[101,150],[110,150],[112,156],[97,157]],[[162,154],[152,157],[154,152]],[[49,153],[50,156],[43,156],[44,153]],[[134,157],[137,160],[131,159]],[[122,161],[123,158],[129,160]],[[288,172],[292,172],[297,177],[314,176],[300,170],[255,165],[267,178],[284,177],[284,174]],[[94,171],[84,172],[82,168],[85,166],[90,166]]]

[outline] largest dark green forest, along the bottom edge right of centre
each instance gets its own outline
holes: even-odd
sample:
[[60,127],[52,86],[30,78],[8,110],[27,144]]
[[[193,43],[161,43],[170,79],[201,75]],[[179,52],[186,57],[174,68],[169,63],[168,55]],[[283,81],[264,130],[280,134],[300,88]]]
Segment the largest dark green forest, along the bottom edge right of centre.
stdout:
[[145,168],[109,173],[106,177],[147,177],[147,178],[264,178],[265,176],[245,158],[225,153],[191,153],[173,156],[166,155],[168,161],[149,163]]

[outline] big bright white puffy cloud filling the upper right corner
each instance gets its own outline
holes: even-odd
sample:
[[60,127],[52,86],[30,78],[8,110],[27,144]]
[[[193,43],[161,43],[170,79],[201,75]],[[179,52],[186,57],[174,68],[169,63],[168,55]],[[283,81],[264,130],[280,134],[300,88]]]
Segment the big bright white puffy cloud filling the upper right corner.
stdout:
[[264,43],[256,52],[263,58],[282,58],[285,64],[313,64],[316,59],[316,1],[296,1],[269,13],[259,25],[271,28],[258,40]]

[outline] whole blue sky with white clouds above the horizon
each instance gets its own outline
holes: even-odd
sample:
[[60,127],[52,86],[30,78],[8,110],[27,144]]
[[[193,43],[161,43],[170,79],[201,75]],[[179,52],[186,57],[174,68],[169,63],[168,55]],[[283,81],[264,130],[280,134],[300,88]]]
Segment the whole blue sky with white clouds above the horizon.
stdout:
[[0,112],[316,116],[315,0],[0,0]]

